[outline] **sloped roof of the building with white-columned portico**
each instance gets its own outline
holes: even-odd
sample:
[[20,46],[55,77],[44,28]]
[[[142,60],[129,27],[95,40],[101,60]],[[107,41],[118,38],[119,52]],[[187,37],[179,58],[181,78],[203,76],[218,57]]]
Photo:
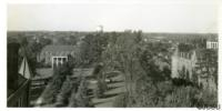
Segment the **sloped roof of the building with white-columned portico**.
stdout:
[[46,51],[52,51],[52,52],[56,52],[56,51],[73,51],[73,50],[75,50],[74,46],[46,46],[42,49],[42,52],[46,52]]

